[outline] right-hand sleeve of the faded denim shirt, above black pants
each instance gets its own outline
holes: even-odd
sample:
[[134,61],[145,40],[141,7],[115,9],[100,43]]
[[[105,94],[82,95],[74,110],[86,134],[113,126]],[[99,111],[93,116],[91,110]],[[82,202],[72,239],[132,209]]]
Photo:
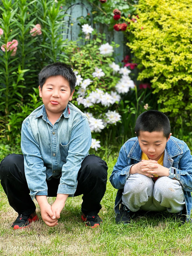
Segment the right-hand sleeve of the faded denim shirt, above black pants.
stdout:
[[91,131],[88,119],[83,117],[72,126],[68,155],[62,167],[62,175],[58,186],[58,194],[73,196],[77,187],[77,175],[83,159],[91,147]]

